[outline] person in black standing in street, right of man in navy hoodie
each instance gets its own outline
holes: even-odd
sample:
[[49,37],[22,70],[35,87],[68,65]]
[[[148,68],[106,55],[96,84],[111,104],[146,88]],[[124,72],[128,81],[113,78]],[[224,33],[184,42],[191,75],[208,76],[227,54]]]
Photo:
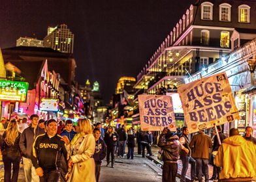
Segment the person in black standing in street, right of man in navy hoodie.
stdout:
[[104,136],[104,141],[106,143],[106,166],[110,164],[110,153],[111,153],[111,167],[114,168],[114,161],[115,161],[115,150],[116,145],[118,144],[119,136],[112,126],[108,127],[108,131],[106,131]]

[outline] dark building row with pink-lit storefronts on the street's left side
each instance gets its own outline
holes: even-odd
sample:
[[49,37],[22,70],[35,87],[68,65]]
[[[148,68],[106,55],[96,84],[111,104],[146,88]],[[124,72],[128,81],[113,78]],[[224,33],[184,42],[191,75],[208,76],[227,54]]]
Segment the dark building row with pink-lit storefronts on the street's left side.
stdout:
[[5,114],[8,105],[15,105],[16,114],[37,113],[44,119],[75,121],[84,115],[84,102],[74,81],[76,61],[71,54],[46,47],[19,46],[3,49],[3,60],[7,80],[29,83],[27,101],[19,105],[5,101]]

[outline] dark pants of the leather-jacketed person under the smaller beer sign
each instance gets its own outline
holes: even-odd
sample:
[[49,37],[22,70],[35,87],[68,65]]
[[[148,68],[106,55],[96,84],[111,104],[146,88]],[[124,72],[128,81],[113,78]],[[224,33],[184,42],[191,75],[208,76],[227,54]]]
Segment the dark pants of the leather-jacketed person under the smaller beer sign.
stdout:
[[163,163],[163,175],[162,182],[175,182],[176,175],[178,172],[178,164],[177,163]]

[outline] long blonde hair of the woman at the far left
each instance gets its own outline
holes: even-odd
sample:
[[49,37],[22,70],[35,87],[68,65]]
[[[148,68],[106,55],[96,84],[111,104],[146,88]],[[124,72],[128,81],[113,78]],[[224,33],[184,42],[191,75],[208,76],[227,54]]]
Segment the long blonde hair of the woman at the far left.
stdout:
[[7,143],[8,146],[13,146],[16,138],[19,135],[18,125],[16,120],[10,120],[10,122],[7,125],[7,130],[5,131],[5,133],[6,133],[5,142]]

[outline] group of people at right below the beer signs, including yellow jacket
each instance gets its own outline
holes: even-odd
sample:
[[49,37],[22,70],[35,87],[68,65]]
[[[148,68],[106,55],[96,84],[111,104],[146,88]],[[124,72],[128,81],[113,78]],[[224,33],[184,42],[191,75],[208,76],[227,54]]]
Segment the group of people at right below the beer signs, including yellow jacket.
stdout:
[[[219,136],[217,136],[217,134]],[[189,140],[189,130],[182,128],[182,135],[163,129],[157,143],[162,149],[163,182],[176,181],[178,159],[182,160],[181,181],[186,181],[186,173],[191,164],[191,181],[252,181],[256,176],[256,139],[252,128],[246,127],[241,136],[238,129],[232,128],[229,137],[221,133],[221,127],[214,130],[214,137],[199,131]],[[210,149],[214,158],[214,171],[209,177],[208,162]]]

